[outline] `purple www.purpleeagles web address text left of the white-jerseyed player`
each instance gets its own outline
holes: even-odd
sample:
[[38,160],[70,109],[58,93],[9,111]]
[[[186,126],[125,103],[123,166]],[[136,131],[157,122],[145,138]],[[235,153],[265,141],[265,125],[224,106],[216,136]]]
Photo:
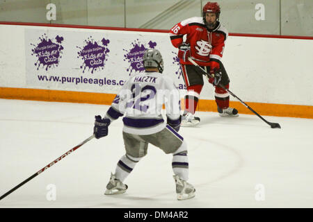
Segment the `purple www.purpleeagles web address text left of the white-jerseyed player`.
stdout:
[[124,85],[124,80],[115,80],[109,78],[86,78],[80,77],[69,77],[69,76],[45,76],[38,75],[38,80],[44,82],[58,82],[58,83],[74,83],[78,84],[95,84],[99,86],[103,85]]

